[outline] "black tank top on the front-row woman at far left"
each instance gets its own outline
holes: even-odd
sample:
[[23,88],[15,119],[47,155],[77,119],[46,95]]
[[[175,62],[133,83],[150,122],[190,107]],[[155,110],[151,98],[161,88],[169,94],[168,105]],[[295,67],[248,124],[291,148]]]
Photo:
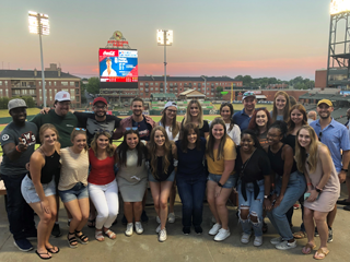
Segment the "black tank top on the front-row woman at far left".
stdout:
[[[60,155],[55,151],[50,156],[45,156],[45,165],[42,168],[40,183],[49,183],[54,176],[60,175],[61,164],[59,163]],[[31,174],[28,177],[32,179]]]

